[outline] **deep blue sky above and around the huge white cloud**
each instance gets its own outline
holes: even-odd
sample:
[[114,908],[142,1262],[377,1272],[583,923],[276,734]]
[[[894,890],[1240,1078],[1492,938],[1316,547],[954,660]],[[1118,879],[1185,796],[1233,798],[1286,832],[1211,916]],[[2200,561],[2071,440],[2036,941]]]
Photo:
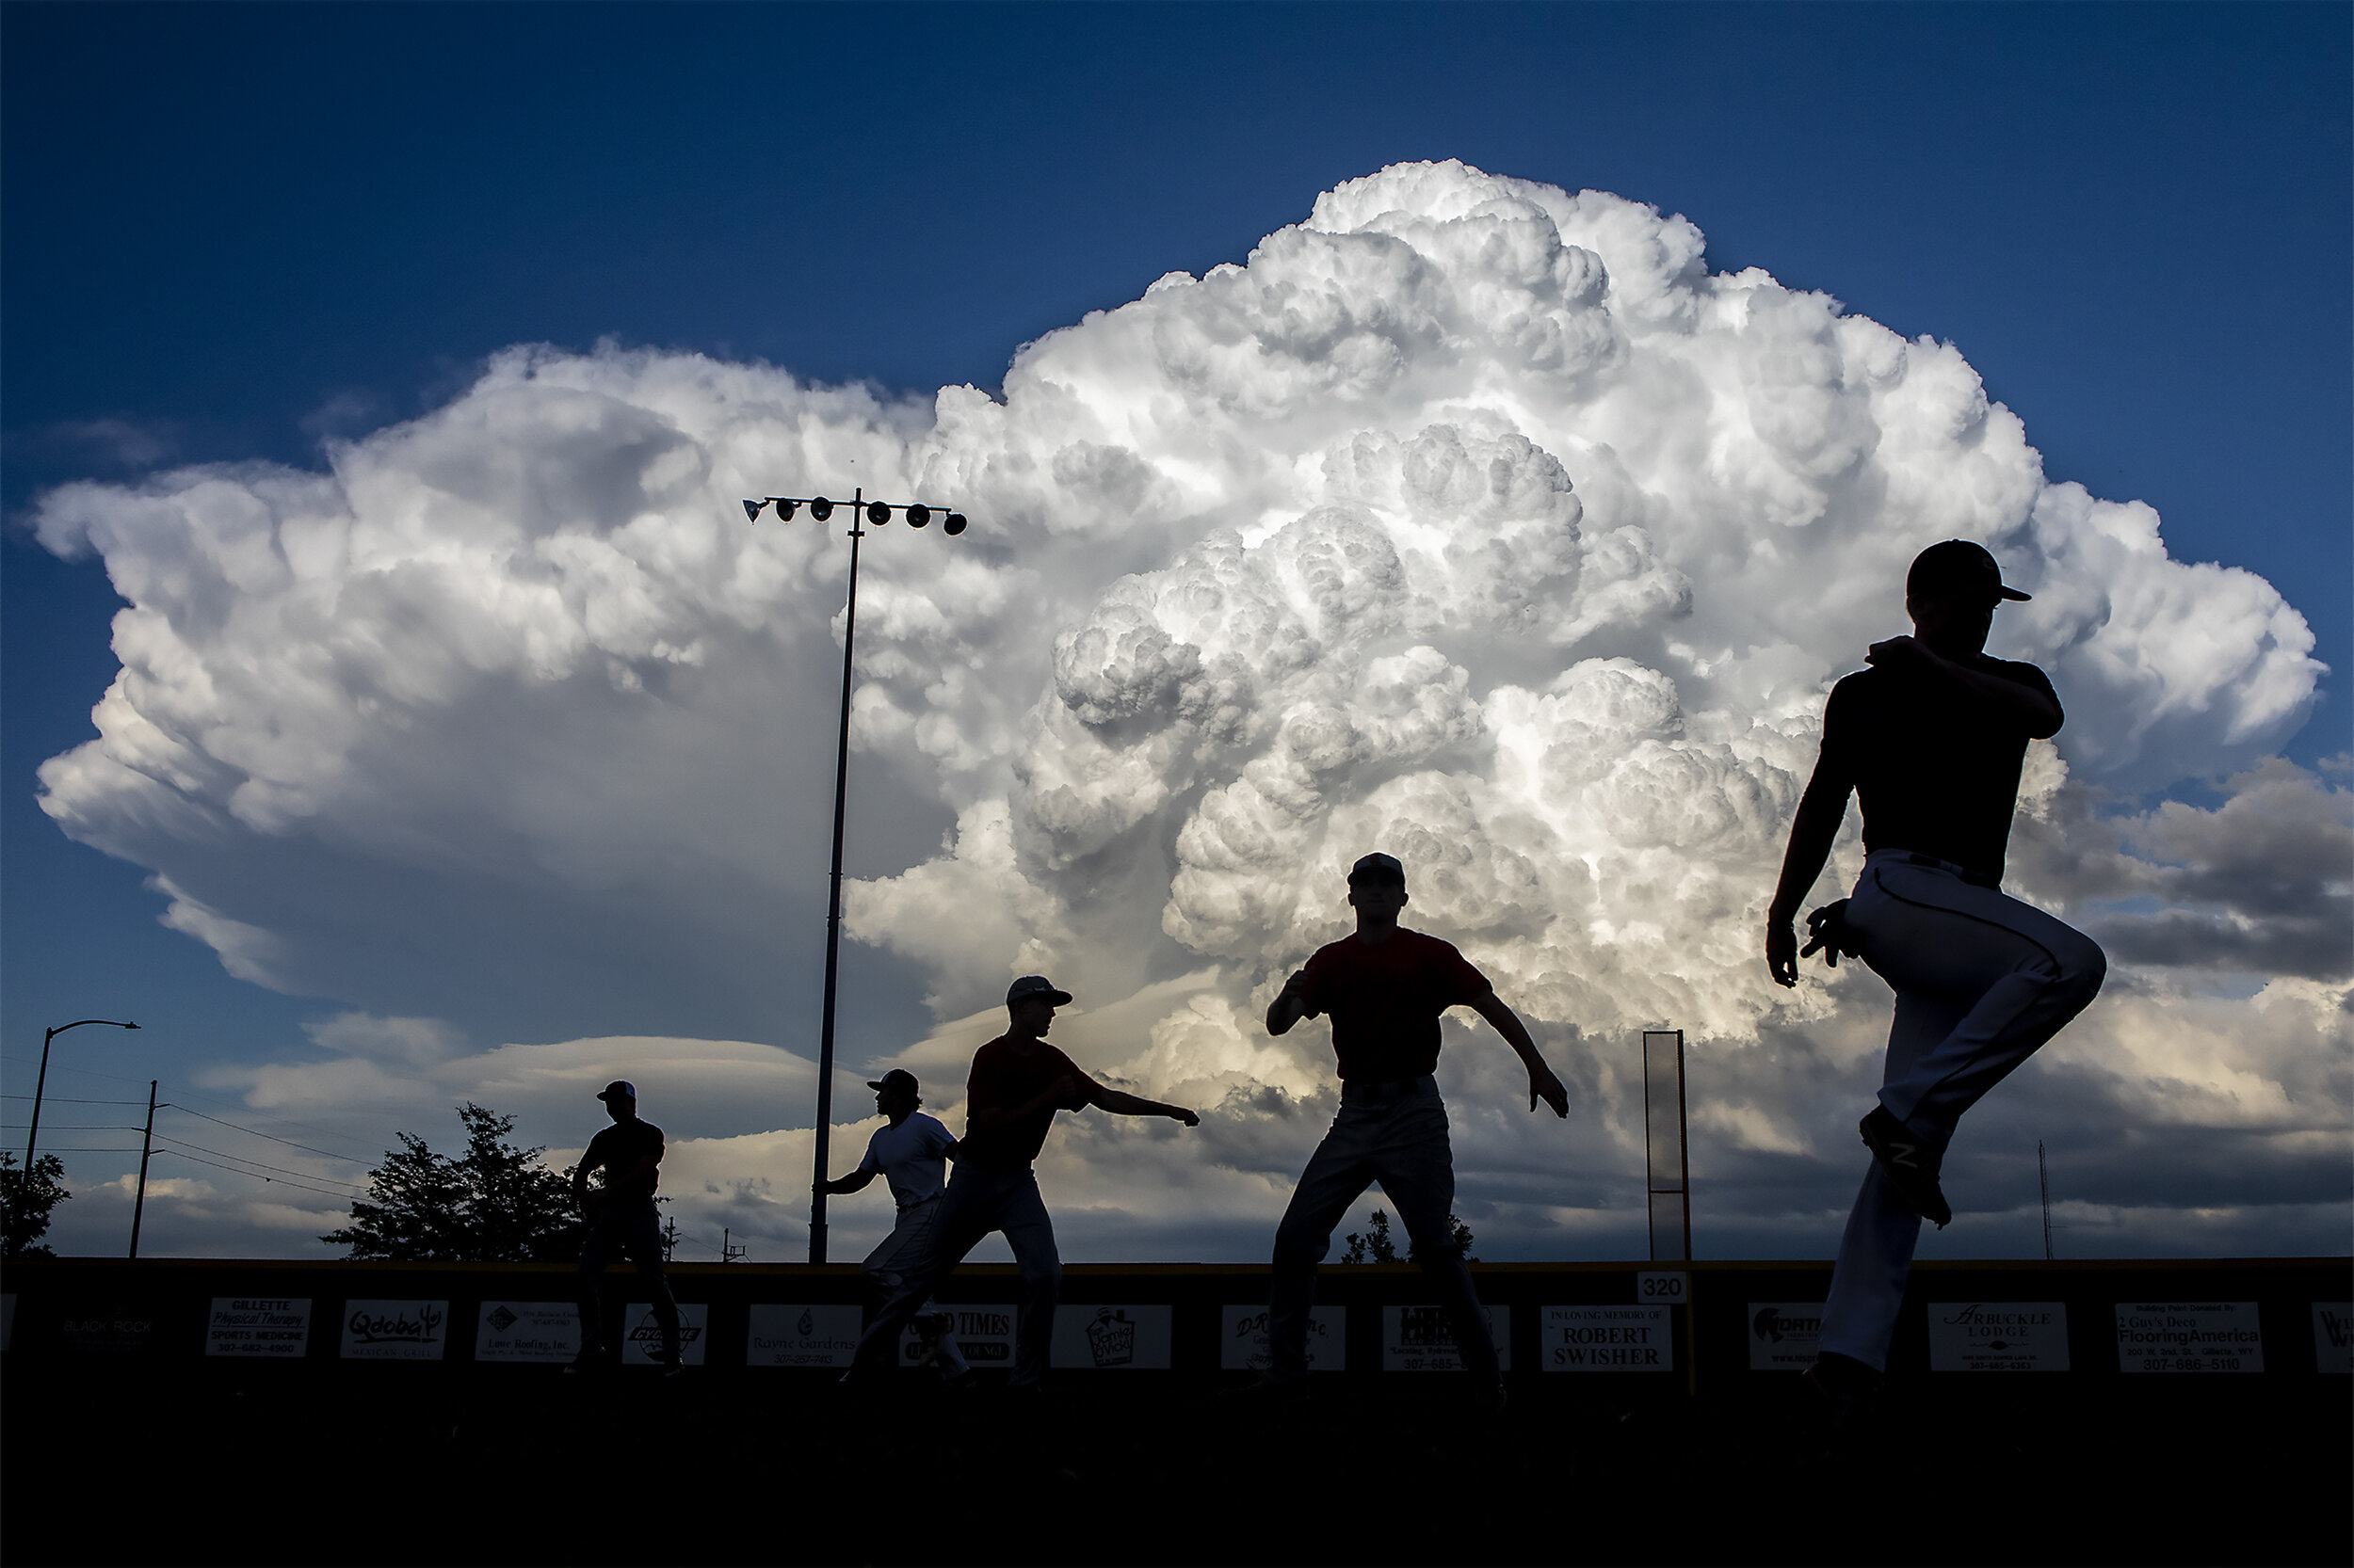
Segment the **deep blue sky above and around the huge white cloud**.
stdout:
[[137,869],[33,805],[33,768],[92,735],[115,607],[97,565],[28,544],[40,487],[313,464],[513,341],[996,386],[1024,339],[1403,158],[1685,212],[1716,268],[1956,341],[2053,478],[2152,501],[2175,556],[2305,610],[2338,673],[2290,753],[2345,751],[2349,16],[5,7],[9,1092],[47,1022],[139,1015],[71,1036],[73,1062],[169,1078],[334,1010],[224,977]]

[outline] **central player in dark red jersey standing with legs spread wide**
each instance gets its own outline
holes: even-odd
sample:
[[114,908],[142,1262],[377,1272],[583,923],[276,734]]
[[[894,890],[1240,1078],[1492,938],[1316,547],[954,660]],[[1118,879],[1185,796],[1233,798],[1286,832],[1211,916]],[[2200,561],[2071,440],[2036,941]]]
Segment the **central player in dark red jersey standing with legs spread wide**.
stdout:
[[1332,1248],[1339,1217],[1365,1187],[1379,1182],[1398,1205],[1415,1262],[1438,1285],[1464,1370],[1483,1396],[1499,1403],[1495,1337],[1448,1224],[1455,1208],[1455,1151],[1448,1144],[1448,1107],[1434,1076],[1438,1015],[1464,1005],[1495,1024],[1528,1067],[1530,1111],[1544,1099],[1554,1116],[1568,1116],[1570,1092],[1544,1064],[1518,1015],[1452,942],[1398,925],[1405,866],[1389,855],[1365,855],[1349,866],[1349,904],[1356,909],[1356,935],[1316,949],[1266,1008],[1269,1034],[1285,1034],[1302,1017],[1332,1015],[1339,1114],[1299,1172],[1299,1187],[1276,1227],[1276,1276],[1266,1307],[1269,1370],[1259,1387],[1285,1389],[1306,1377],[1316,1264]]

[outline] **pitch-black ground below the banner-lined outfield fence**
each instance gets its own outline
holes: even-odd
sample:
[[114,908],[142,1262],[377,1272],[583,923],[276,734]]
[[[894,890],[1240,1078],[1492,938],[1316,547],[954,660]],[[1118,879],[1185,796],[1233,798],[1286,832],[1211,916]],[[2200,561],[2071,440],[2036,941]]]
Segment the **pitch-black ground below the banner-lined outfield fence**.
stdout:
[[[850,1396],[652,1370],[12,1370],[7,1563],[2347,1563],[2342,1377],[1942,1377],[1768,1398],[1523,1377],[1066,1375]],[[1577,1387],[1568,1387],[1568,1384]]]

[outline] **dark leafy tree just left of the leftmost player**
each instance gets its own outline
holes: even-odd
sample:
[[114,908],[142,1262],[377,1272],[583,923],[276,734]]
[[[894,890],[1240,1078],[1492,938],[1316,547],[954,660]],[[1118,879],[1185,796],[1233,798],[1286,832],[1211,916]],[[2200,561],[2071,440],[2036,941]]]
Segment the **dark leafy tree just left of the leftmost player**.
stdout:
[[457,1118],[466,1154],[433,1154],[400,1132],[400,1149],[367,1172],[351,1224],[320,1236],[353,1257],[400,1262],[544,1262],[570,1257],[577,1238],[570,1172],[539,1163],[546,1149],[506,1142],[513,1116],[471,1099]]

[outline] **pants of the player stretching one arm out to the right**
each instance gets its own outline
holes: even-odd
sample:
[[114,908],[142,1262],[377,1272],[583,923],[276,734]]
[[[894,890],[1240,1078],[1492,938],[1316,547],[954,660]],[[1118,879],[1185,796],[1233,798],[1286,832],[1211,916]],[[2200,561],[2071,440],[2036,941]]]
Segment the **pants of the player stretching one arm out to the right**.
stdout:
[[883,1309],[859,1337],[852,1368],[880,1370],[892,1363],[899,1326],[916,1316],[939,1281],[949,1278],[965,1253],[989,1231],[1003,1231],[1022,1271],[1022,1311],[1015,1323],[1012,1389],[1033,1389],[1045,1377],[1048,1351],[1055,1344],[1055,1302],[1062,1300],[1062,1255],[1055,1250],[1055,1222],[1038,1196],[1038,1175],[1022,1165],[993,1170],[958,1161],[939,1217],[899,1276],[899,1288],[883,1297]]

